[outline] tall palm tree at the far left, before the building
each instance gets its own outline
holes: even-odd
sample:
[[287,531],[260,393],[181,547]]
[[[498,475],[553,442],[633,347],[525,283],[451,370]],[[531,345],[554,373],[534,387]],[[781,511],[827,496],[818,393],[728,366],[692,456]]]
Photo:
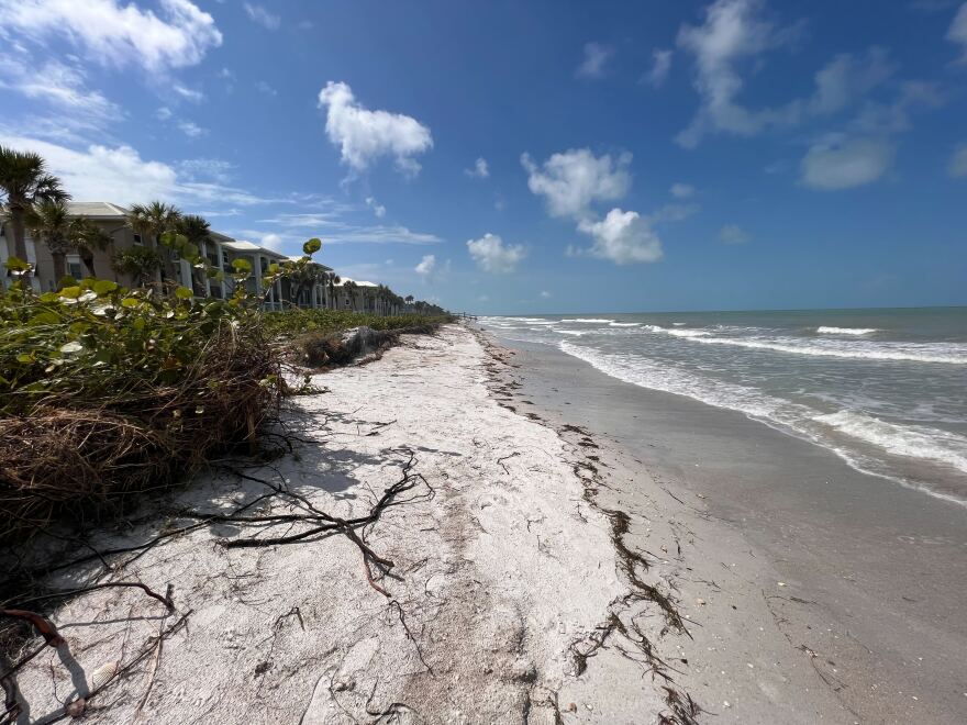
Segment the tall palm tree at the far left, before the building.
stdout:
[[13,231],[14,256],[26,261],[24,221],[30,209],[42,201],[70,199],[60,180],[47,172],[40,154],[0,146],[0,192],[7,197],[7,213]]

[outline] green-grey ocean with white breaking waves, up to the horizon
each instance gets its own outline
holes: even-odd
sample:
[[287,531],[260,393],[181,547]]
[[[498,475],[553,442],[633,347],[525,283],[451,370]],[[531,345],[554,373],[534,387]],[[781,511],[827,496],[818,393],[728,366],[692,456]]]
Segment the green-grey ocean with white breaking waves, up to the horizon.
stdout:
[[967,308],[481,317],[967,506]]

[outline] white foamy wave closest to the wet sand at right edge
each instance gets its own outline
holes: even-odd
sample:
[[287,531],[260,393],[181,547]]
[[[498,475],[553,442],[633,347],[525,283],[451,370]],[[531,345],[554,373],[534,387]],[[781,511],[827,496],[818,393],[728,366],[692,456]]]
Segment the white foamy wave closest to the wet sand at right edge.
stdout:
[[853,410],[813,420],[894,456],[946,464],[967,472],[967,438],[921,425],[897,425]]

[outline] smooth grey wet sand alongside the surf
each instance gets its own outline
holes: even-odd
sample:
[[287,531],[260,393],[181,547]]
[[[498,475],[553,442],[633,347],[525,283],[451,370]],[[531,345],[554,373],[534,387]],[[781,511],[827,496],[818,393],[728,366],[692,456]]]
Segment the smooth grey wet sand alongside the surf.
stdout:
[[[518,350],[515,399],[533,403],[526,410],[586,426],[613,455],[635,461],[638,473],[731,532],[738,543],[720,532],[723,547],[730,538],[731,550],[747,548],[765,567],[759,578],[775,572],[779,581],[760,593],[774,621],[759,624],[786,638],[786,667],[811,667],[842,705],[836,713],[820,704],[816,720],[967,722],[967,509],[860,473],[740,413],[624,383],[547,346],[501,342]],[[627,501],[634,490],[623,494]],[[694,531],[693,544],[708,538],[708,531]],[[702,547],[691,555],[686,547],[683,559],[715,549],[708,540]],[[763,615],[743,605],[759,592],[752,579],[730,581],[716,580],[711,591],[732,596],[738,604],[731,616],[741,620],[744,610],[749,621],[723,627],[721,614],[705,607],[697,617],[718,629],[721,650],[747,651],[748,632]],[[726,722],[777,722],[770,707],[791,693],[769,693],[762,682],[733,691],[762,698],[763,707],[746,703],[753,706],[738,716],[735,703],[721,705],[730,689],[708,667],[710,647],[679,682],[719,705]],[[796,696],[822,700],[814,691]]]

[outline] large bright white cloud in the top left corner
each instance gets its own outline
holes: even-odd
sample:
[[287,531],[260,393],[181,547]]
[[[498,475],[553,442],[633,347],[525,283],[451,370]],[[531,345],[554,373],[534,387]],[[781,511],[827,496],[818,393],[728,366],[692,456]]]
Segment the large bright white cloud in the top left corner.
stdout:
[[60,35],[102,65],[149,72],[198,65],[222,44],[214,19],[189,0],[160,0],[160,16],[118,0],[0,0],[0,31],[34,42]]

